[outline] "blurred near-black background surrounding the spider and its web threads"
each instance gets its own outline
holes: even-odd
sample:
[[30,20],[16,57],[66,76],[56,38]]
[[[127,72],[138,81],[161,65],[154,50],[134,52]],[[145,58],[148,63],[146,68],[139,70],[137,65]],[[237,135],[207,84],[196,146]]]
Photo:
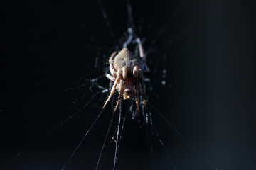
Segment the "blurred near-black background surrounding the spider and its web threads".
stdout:
[[[102,94],[92,101],[100,101],[97,106],[90,104],[35,144],[95,94],[97,88],[73,105],[90,84],[65,89],[102,75],[102,56],[109,57],[124,37],[126,2],[102,1],[102,6],[113,37],[97,1],[1,3],[0,169],[60,169],[100,113],[106,97]],[[153,87],[147,90],[149,106],[214,164],[149,107],[176,168],[255,169],[255,3],[132,1],[132,9],[145,51],[153,50],[147,61]],[[161,86],[163,69],[167,86]],[[107,80],[100,83],[108,86]],[[112,115],[107,109],[67,169],[95,169]],[[125,132],[117,169],[171,169],[157,138],[145,140],[137,120],[127,120]],[[113,146],[102,169],[112,167]]]

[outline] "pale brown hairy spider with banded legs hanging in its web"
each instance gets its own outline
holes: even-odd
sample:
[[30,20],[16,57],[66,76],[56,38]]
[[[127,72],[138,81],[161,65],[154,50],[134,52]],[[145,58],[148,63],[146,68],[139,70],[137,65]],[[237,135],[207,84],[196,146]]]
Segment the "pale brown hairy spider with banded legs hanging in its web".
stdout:
[[110,63],[110,74],[106,74],[106,77],[114,81],[114,85],[110,91],[110,95],[105,102],[105,106],[113,96],[115,89],[119,92],[119,98],[117,105],[114,108],[114,112],[117,111],[117,107],[122,99],[131,99],[135,94],[137,111],[139,115],[139,98],[138,89],[139,85],[142,87],[142,95],[144,98],[144,104],[146,106],[146,96],[144,89],[144,76],[149,72],[149,67],[146,66],[146,56],[144,55],[142,44],[139,43],[139,54],[140,57],[136,57],[126,47],[124,47],[118,54],[117,52],[112,53]]

